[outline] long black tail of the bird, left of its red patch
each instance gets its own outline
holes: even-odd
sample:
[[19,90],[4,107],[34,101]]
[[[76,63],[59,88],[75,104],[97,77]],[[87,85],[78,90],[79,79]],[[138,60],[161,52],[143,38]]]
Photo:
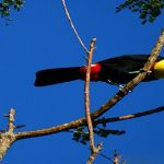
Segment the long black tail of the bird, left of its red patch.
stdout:
[[81,79],[81,67],[47,69],[36,72],[35,86],[46,86]]

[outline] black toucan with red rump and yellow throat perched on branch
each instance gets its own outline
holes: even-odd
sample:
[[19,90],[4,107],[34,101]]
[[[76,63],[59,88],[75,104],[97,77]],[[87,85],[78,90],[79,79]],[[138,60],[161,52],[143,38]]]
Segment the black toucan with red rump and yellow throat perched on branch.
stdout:
[[[91,81],[125,84],[143,68],[149,55],[125,55],[91,65]],[[73,80],[84,80],[86,66],[45,69],[36,72],[35,86],[46,86]],[[164,78],[164,57],[159,56],[144,82]]]

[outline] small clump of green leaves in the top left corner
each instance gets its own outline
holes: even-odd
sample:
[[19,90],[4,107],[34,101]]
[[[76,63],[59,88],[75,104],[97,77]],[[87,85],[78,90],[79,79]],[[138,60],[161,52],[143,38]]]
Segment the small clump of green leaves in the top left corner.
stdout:
[[2,0],[0,2],[0,14],[2,17],[10,20],[11,9],[20,11],[23,7],[24,0]]

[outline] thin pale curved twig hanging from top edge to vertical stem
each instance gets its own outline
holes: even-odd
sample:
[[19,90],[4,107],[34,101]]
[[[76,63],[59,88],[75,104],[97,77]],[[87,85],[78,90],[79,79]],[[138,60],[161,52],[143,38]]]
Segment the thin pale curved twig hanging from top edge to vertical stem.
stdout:
[[63,9],[65,9],[67,19],[68,19],[68,21],[69,21],[69,23],[70,23],[70,25],[71,25],[71,28],[72,28],[73,33],[75,34],[75,36],[77,36],[79,43],[81,44],[81,46],[83,47],[83,49],[84,49],[86,52],[89,52],[87,48],[86,48],[85,45],[83,44],[81,37],[79,36],[79,34],[78,34],[78,32],[77,32],[77,30],[75,30],[75,27],[74,27],[74,25],[73,25],[72,19],[71,19],[71,16],[70,16],[69,11],[68,11],[68,8],[67,8],[67,5],[66,5],[66,1],[65,1],[65,0],[61,0],[61,2],[62,2],[62,5],[63,5]]

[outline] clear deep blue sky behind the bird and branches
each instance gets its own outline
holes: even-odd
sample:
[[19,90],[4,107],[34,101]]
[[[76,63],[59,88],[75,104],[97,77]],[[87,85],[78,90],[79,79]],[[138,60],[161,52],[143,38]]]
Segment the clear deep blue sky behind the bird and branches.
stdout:
[[[119,55],[149,54],[162,27],[164,15],[153,24],[141,24],[129,11],[115,13],[119,0],[68,1],[70,14],[83,42],[89,46],[97,38],[94,61]],[[83,82],[74,81],[47,87],[35,87],[35,72],[55,67],[84,65],[85,51],[78,43],[66,19],[60,0],[26,1],[9,26],[0,20],[0,128],[7,126],[2,114],[16,109],[20,130],[35,130],[71,121],[84,115]],[[164,50],[162,52],[164,55]],[[162,55],[161,54],[161,55]],[[91,108],[98,108],[117,92],[105,83],[91,84]],[[140,84],[107,117],[131,114],[164,105],[164,81]],[[164,114],[110,124],[110,129],[126,130],[120,137],[96,138],[104,142],[102,153],[112,156],[117,149],[128,164],[163,164]],[[89,145],[72,141],[72,134],[26,139],[14,143],[3,164],[84,164]],[[109,163],[97,156],[95,164]]]

